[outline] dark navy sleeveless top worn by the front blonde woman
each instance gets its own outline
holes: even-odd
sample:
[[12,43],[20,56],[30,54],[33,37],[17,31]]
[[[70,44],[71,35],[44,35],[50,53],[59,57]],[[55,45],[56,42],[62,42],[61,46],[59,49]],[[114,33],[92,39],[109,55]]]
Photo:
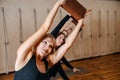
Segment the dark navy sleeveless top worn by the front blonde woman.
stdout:
[[[44,59],[46,71],[48,71],[48,62]],[[30,61],[19,71],[15,71],[14,80],[49,80],[49,73],[41,73],[36,66],[36,59],[33,55]]]

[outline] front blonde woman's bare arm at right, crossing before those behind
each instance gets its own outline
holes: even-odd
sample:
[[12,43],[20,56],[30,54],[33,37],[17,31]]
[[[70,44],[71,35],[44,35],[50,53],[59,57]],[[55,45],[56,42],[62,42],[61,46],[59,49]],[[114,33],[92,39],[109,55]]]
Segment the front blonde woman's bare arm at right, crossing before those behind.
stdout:
[[72,46],[74,40],[76,39],[78,33],[79,33],[79,29],[81,28],[83,23],[83,19],[78,21],[78,24],[76,26],[76,28],[72,31],[72,33],[68,36],[66,42],[64,45],[62,45],[56,52],[55,54],[50,56],[50,59],[52,61],[53,64],[57,63],[63,56],[64,54],[67,52],[67,50]]

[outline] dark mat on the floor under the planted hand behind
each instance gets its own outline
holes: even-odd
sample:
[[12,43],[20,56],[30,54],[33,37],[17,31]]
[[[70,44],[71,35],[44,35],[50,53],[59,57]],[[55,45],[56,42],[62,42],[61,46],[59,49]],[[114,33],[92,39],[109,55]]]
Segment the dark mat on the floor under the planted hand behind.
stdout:
[[[68,70],[64,70],[67,76],[71,76],[71,75],[75,75],[75,74],[83,74],[83,73],[87,73],[88,70],[85,68],[78,68],[80,71],[79,72],[73,72],[72,70],[68,69]],[[59,75],[59,73],[57,73],[56,75],[56,79],[61,78],[61,76]]]

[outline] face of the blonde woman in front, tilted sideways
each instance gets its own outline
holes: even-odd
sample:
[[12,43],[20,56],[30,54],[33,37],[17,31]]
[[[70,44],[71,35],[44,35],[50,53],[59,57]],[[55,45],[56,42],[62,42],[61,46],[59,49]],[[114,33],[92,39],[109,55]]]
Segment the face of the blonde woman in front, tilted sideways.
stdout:
[[45,38],[40,42],[40,44],[37,46],[36,53],[40,55],[41,57],[47,56],[51,53],[54,46],[54,41],[52,38]]

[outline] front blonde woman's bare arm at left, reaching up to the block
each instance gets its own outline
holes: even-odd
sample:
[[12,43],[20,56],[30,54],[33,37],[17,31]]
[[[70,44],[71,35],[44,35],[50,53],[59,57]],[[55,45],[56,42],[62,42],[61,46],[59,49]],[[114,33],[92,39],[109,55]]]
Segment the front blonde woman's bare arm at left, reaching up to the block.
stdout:
[[51,27],[51,24],[55,18],[55,15],[58,11],[58,8],[60,5],[64,3],[64,0],[59,0],[45,19],[45,22],[42,24],[42,26],[32,35],[30,36],[18,49],[17,51],[17,57],[19,57],[19,60],[26,59],[26,56],[28,53],[32,50],[32,47],[40,41],[43,36],[48,32],[49,28]]

